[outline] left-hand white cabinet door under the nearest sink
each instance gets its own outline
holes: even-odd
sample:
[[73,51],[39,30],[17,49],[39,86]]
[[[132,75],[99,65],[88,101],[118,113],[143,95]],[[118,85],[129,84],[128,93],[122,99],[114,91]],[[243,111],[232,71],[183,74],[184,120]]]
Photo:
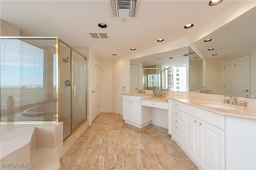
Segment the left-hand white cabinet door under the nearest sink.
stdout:
[[184,113],[184,149],[199,162],[198,119]]

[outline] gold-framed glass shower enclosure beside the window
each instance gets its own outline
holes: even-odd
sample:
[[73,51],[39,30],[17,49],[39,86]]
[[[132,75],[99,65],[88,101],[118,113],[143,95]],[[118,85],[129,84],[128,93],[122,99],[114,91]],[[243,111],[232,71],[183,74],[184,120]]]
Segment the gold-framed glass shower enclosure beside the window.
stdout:
[[87,58],[58,37],[0,37],[1,123],[86,121]]

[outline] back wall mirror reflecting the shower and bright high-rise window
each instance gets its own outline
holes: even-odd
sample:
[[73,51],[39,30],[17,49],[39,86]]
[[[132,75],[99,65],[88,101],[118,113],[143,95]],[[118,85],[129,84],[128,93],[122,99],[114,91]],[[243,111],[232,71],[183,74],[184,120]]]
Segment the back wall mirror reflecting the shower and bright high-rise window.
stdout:
[[[148,87],[145,82],[148,81],[149,75],[151,78],[158,75],[160,83],[157,86],[160,90],[188,91],[188,51],[188,47],[183,47],[131,59],[130,89],[155,90],[156,87]],[[153,70],[154,75],[146,73]]]

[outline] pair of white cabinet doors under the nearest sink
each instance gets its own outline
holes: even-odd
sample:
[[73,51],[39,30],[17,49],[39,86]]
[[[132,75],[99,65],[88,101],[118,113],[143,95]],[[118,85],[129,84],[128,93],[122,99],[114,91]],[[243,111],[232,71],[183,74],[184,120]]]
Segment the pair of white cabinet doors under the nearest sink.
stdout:
[[225,169],[225,131],[184,113],[184,150],[202,169]]

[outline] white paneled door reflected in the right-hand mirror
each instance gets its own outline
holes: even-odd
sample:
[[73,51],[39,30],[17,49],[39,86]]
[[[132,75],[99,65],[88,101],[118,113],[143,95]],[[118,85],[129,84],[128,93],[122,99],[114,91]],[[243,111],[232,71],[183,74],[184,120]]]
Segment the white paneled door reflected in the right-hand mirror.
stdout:
[[250,94],[250,55],[225,61],[225,95]]

